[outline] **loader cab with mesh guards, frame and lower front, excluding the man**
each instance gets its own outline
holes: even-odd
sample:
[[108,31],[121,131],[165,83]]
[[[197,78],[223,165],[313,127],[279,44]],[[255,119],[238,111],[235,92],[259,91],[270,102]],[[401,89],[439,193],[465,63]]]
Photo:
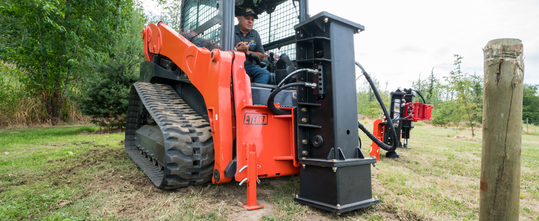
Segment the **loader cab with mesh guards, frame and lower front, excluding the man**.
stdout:
[[[295,70],[294,25],[308,17],[307,0],[185,0],[182,1],[181,30],[192,43],[206,49],[234,49],[236,12],[252,8],[257,14],[253,29],[260,34],[271,73],[268,84],[251,83],[253,103],[266,105],[269,91]],[[282,97],[282,98],[280,98]],[[288,89],[276,100],[294,106],[295,90]]]

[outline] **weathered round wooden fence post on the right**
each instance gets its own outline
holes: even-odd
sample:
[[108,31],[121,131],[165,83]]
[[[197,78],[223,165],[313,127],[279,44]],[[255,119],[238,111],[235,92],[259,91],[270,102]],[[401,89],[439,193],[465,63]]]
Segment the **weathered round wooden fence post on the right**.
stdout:
[[479,220],[519,220],[524,62],[521,40],[483,49],[485,84]]

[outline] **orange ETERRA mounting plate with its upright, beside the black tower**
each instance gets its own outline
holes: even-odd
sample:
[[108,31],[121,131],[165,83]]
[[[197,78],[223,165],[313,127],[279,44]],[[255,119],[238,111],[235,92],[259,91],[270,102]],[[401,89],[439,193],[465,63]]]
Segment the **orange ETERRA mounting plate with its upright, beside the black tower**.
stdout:
[[274,115],[267,106],[253,105],[251,82],[243,69],[245,54],[234,54],[236,59],[232,66],[232,78],[238,147],[236,181],[247,178],[247,171],[239,170],[247,165],[248,153],[245,147],[248,145],[256,146],[258,177],[299,174],[299,163],[295,160],[294,151],[293,115]]

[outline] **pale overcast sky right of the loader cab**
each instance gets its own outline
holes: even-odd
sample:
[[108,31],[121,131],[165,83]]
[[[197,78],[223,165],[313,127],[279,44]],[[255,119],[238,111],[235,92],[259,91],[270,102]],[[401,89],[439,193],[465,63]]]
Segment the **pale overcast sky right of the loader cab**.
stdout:
[[[148,11],[156,5],[143,2]],[[309,14],[320,11],[365,26],[355,34],[356,60],[382,83],[380,89],[386,81],[390,91],[409,88],[433,67],[441,79],[454,68],[453,54],[464,57],[462,71],[482,74],[482,49],[497,38],[522,40],[524,83],[539,84],[538,0],[310,0]]]

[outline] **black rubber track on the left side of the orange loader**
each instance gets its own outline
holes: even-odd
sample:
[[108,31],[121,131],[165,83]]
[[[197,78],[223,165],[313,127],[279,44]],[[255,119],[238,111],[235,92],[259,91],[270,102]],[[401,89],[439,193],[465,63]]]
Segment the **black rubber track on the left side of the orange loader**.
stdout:
[[[203,101],[201,101],[203,102]],[[165,162],[136,146],[144,105],[163,133]],[[141,151],[142,150],[142,151]],[[208,121],[195,113],[169,85],[136,82],[131,87],[126,125],[126,152],[161,189],[211,182],[213,139]]]

